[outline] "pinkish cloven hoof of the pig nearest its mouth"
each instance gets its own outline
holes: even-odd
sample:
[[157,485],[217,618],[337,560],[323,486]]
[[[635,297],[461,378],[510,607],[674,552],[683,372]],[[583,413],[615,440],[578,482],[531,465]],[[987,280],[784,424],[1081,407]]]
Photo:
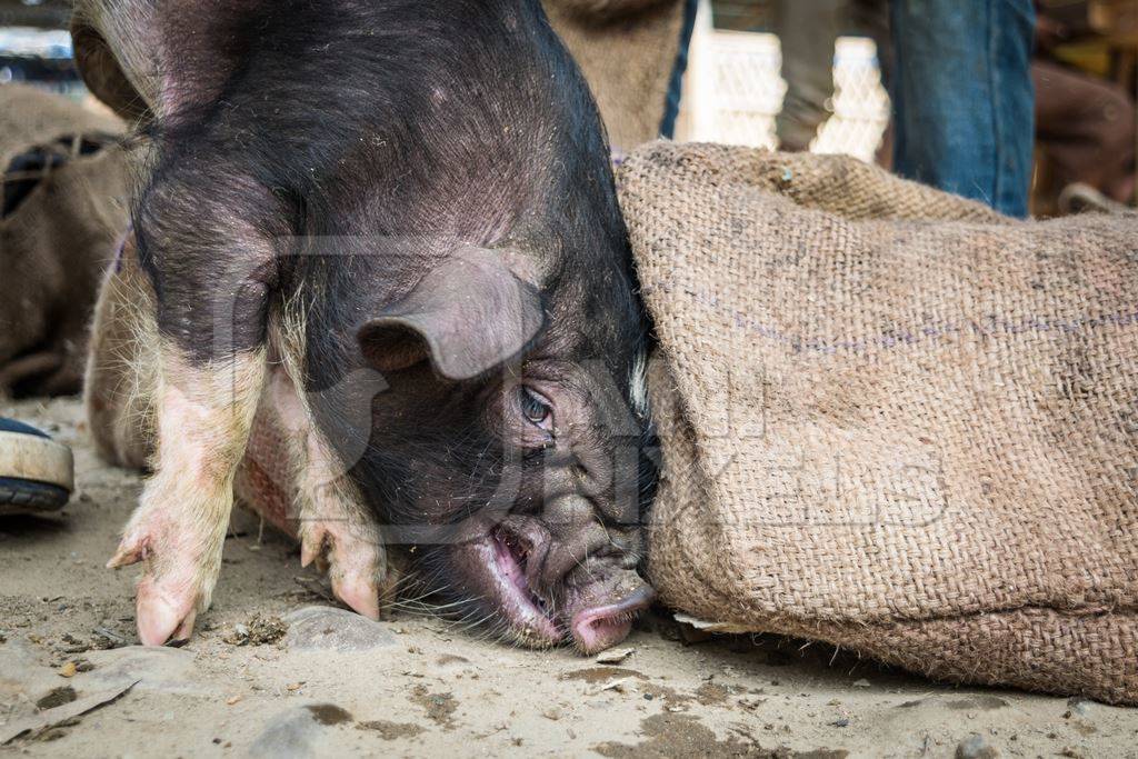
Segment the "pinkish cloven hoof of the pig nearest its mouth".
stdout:
[[327,567],[337,599],[369,619],[379,619],[387,558],[378,535],[353,535],[345,522],[307,522],[300,528],[300,564],[307,567],[313,561]]

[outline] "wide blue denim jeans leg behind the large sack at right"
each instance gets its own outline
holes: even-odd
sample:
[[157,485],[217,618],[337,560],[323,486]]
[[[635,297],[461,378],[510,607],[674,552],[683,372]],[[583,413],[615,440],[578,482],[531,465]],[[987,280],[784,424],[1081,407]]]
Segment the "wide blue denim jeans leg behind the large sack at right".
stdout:
[[1031,0],[891,0],[893,170],[1028,213]]

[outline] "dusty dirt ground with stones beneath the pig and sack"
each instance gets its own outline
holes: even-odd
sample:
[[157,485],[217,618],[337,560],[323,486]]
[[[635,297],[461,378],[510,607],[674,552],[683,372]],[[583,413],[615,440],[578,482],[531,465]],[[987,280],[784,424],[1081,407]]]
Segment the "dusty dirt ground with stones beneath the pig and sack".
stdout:
[[102,568],[138,477],[94,457],[74,399],[0,413],[74,446],[77,479],[58,518],[0,518],[0,757],[1138,757],[1136,710],[708,638],[663,613],[620,661],[406,610],[370,622],[240,511],[193,640],[143,649],[138,570]]

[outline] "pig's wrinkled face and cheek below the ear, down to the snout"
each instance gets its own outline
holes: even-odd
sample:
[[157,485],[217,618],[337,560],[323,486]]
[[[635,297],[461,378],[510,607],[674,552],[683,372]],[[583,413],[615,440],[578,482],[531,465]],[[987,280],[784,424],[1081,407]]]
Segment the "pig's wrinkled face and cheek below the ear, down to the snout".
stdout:
[[[595,652],[624,638],[651,600],[636,574],[636,420],[578,365],[534,352],[519,370],[457,385],[422,365],[388,373],[371,448],[382,456],[358,470],[409,539],[427,537],[413,555],[459,612],[516,642],[568,635]],[[407,407],[419,411],[399,413]],[[608,414],[624,429],[608,429]],[[440,446],[438,430],[452,444]]]

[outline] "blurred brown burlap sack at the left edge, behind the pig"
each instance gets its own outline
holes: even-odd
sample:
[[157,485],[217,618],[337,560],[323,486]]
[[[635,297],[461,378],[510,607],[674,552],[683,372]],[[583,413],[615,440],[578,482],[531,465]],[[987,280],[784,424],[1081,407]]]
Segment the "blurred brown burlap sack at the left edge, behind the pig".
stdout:
[[0,86],[0,395],[76,393],[99,278],[127,223],[122,124]]

